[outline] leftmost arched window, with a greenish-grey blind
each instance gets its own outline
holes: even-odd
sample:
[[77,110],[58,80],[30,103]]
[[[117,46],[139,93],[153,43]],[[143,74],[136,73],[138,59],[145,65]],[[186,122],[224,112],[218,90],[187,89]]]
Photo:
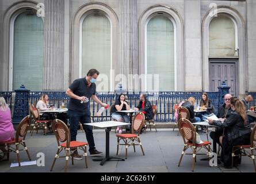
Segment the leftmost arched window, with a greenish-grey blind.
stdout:
[[13,90],[21,84],[29,90],[43,89],[44,24],[36,13],[19,14],[13,25]]

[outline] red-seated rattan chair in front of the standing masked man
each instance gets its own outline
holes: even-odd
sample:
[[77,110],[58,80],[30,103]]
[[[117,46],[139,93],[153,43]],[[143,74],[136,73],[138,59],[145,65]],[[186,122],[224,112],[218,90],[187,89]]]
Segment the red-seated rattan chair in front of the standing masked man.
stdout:
[[[79,141],[70,141],[70,131],[67,125],[61,120],[56,119],[52,122],[52,130],[54,131],[56,136],[56,140],[58,143],[58,150],[56,152],[54,162],[52,162],[51,171],[54,168],[54,164],[57,158],[66,158],[64,171],[67,172],[68,159],[78,149],[84,152],[83,156],[85,156],[85,166],[87,168],[88,166],[87,166],[86,148],[88,143],[83,143]],[[62,151],[66,153],[66,156],[59,156],[60,152]],[[74,165],[74,158],[72,156],[71,156],[71,159],[72,159],[72,165]]]

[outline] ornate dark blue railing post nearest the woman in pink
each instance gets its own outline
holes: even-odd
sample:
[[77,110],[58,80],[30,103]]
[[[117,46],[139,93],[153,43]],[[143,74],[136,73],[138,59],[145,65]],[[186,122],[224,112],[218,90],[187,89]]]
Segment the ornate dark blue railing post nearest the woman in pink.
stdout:
[[13,112],[13,122],[20,122],[22,118],[27,116],[28,113],[28,95],[29,91],[24,85],[21,85],[20,89],[15,91],[15,101],[14,101],[14,112]]

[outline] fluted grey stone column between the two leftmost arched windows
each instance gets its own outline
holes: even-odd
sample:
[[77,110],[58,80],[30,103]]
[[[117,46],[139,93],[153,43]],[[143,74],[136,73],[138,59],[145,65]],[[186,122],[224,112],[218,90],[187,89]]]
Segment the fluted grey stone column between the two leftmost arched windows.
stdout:
[[43,90],[63,90],[64,1],[45,0]]

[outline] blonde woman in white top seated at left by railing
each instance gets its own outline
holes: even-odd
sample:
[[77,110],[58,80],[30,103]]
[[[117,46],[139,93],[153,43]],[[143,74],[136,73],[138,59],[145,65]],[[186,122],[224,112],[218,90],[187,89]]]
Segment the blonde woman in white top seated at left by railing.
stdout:
[[52,120],[52,114],[51,113],[44,113],[44,110],[49,110],[51,108],[47,108],[48,106],[48,95],[43,94],[40,98],[40,100],[36,104],[36,108],[39,111],[41,120]]

